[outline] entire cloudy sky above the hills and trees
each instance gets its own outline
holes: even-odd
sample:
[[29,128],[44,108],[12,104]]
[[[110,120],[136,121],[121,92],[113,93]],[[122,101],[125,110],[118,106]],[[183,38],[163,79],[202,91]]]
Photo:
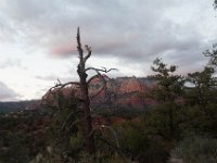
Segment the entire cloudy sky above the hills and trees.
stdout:
[[200,71],[217,42],[213,0],[0,0],[0,101],[40,98],[58,78],[77,80],[76,28],[89,66],[146,76],[157,57]]

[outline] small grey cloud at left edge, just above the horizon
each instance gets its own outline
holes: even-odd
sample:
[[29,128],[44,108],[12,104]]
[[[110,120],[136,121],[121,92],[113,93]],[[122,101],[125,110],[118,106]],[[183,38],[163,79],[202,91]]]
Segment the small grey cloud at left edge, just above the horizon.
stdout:
[[0,101],[16,100],[20,97],[14,90],[9,88],[4,83],[0,82]]

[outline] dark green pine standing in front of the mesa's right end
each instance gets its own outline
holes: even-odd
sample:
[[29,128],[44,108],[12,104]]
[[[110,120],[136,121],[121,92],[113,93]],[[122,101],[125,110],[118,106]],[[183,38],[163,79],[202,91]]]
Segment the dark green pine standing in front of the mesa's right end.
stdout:
[[[148,97],[156,101],[156,113],[163,126],[168,126],[169,137],[176,133],[175,116],[181,105],[181,95],[184,80],[180,75],[174,75],[177,66],[163,63],[161,59],[154,61],[152,71],[156,74],[152,77],[156,79],[156,87]],[[163,127],[162,126],[162,127]],[[165,129],[165,127],[164,127]]]

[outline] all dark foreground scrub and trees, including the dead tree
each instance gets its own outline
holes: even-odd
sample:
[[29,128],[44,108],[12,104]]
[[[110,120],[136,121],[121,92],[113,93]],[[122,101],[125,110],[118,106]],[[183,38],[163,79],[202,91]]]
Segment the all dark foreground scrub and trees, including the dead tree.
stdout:
[[[92,51],[86,46],[88,53],[84,55],[79,28],[77,45],[78,83],[59,82],[37,109],[1,114],[1,163],[163,163],[171,158],[186,163],[217,161],[215,46],[204,52],[209,58],[204,70],[187,76],[177,75],[176,65],[157,58],[149,76],[152,87],[125,95],[150,100],[136,109],[133,103],[112,103],[114,92],[106,89],[110,78],[102,73],[114,68],[86,67]],[[97,75],[87,80],[89,70]],[[90,96],[89,85],[95,79],[101,84],[94,85],[98,91]],[[78,89],[69,89],[73,86]],[[91,100],[102,91],[108,101],[91,110]]]

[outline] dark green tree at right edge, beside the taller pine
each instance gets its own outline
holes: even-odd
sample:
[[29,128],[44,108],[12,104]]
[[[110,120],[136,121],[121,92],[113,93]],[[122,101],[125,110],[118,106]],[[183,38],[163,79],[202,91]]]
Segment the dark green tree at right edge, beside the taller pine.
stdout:
[[188,74],[187,82],[191,87],[186,88],[182,129],[217,134],[217,80],[214,73],[213,67],[205,67],[202,72]]

